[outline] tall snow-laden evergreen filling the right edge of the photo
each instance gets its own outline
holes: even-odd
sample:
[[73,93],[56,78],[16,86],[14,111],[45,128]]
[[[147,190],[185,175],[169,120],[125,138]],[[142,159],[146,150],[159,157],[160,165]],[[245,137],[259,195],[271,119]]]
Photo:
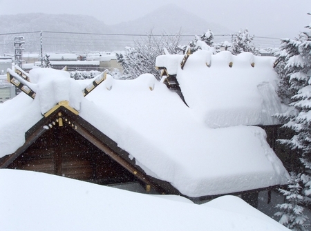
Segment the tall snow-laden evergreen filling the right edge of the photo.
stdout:
[[[308,28],[310,29],[310,26]],[[281,143],[294,150],[294,158],[296,159],[296,168],[294,168],[296,174],[292,174],[290,180],[291,187],[296,187],[296,189],[294,192],[281,191],[286,197],[288,206],[292,206],[292,210],[296,212],[295,215],[292,215],[294,216],[293,219],[288,219],[288,227],[292,227],[294,230],[303,230],[303,222],[305,221],[299,217],[302,212],[301,208],[294,205],[310,205],[311,201],[310,52],[311,32],[301,32],[297,39],[283,39],[281,41],[281,48],[277,53],[278,58],[275,63],[276,72],[281,77],[278,94],[283,103],[288,104],[291,108],[288,112],[276,116],[285,122],[283,127],[294,131],[294,135],[290,139],[281,140]],[[288,198],[290,193],[293,194],[292,197],[299,200],[290,201]]]

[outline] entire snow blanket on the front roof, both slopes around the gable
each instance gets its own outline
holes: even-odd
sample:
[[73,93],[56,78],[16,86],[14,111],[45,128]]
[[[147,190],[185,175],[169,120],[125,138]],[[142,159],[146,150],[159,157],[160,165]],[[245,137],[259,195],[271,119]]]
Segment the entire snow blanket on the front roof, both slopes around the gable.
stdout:
[[42,114],[66,100],[147,174],[188,197],[286,183],[288,173],[261,128],[210,128],[196,108],[188,108],[152,74],[129,81],[107,75],[86,97],[82,89],[92,79],[75,81],[67,72],[37,68],[30,81],[35,99],[21,93],[0,105],[0,157],[15,152]]

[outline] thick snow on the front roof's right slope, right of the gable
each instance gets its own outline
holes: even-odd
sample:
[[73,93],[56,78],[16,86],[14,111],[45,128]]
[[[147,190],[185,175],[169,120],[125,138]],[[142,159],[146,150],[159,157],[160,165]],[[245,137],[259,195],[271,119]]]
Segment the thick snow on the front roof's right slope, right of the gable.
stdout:
[[131,81],[109,77],[86,99],[82,118],[117,141],[148,174],[189,197],[286,183],[286,170],[261,128],[208,128],[151,74]]

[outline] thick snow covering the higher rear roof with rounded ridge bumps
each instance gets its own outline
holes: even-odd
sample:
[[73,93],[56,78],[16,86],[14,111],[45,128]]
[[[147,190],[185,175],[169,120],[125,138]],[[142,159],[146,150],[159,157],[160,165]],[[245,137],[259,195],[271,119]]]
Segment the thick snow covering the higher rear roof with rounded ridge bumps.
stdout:
[[189,56],[183,70],[182,57],[162,55],[156,66],[177,74],[187,105],[210,128],[279,124],[272,115],[285,108],[275,91],[279,79],[273,69],[274,57],[249,52],[235,56],[228,51],[213,55],[199,50]]

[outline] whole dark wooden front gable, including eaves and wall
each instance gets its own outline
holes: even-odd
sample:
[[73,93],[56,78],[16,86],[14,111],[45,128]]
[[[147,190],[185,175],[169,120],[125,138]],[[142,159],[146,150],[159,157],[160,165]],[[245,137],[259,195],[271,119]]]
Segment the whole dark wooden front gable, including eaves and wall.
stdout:
[[[166,181],[149,177],[129,154],[66,106],[56,106],[28,132],[0,168],[46,172],[102,185],[138,182],[147,192],[180,194]],[[104,122],[104,121],[103,121]]]

